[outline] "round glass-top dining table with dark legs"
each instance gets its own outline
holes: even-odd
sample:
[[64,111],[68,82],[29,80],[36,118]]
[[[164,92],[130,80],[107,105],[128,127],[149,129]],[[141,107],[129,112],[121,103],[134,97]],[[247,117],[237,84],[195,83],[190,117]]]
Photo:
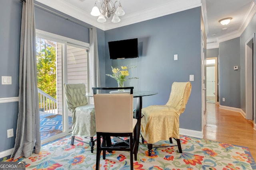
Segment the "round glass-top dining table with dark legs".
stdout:
[[[113,92],[113,91],[112,91]],[[136,115],[134,115],[134,118],[137,119],[137,125],[136,125],[136,140],[137,140],[137,148],[139,147],[139,141],[140,141],[140,122],[141,122],[141,109],[142,109],[142,97],[143,96],[152,96],[156,95],[158,92],[152,92],[152,91],[141,91],[141,90],[134,90],[133,91],[133,97],[137,99],[136,104]],[[93,93],[86,93],[85,96],[93,97]]]

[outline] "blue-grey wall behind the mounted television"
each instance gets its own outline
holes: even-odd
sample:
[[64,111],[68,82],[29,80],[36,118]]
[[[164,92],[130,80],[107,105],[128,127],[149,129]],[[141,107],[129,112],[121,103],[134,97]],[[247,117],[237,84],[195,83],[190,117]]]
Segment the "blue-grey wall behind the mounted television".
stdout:
[[[111,66],[137,66],[130,70],[130,75],[139,79],[127,80],[125,85],[134,86],[135,90],[158,92],[144,97],[143,107],[166,104],[172,83],[187,82],[189,75],[194,74],[192,93],[180,116],[180,128],[195,131],[202,131],[200,17],[198,7],[105,31],[106,73],[112,73]],[[138,38],[138,58],[109,59],[108,41],[132,38]],[[174,61],[174,54],[178,54],[178,61]],[[106,77],[106,85],[116,86],[117,83]]]

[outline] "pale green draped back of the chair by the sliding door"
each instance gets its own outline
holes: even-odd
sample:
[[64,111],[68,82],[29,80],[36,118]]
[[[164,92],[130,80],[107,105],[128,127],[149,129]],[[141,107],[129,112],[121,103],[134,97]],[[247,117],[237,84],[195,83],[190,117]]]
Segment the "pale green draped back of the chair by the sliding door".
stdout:
[[73,113],[76,107],[88,104],[84,83],[65,83],[64,88],[69,111]]

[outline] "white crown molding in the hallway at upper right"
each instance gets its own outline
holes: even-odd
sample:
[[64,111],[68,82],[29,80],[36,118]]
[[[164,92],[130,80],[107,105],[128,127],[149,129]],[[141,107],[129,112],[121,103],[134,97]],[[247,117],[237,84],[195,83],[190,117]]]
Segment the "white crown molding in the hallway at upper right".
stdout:
[[[252,20],[252,18],[254,17],[255,13],[256,13],[256,1],[252,1],[250,8],[247,11],[246,15],[244,16],[243,22],[240,25],[238,30],[225,34],[223,36],[216,37],[215,39],[208,39],[207,41],[208,42],[214,41],[215,42],[214,47],[218,48],[219,43],[228,41],[230,39],[234,39],[236,37],[240,37],[244,32],[244,30],[246,29],[246,27],[248,26],[248,24],[250,23],[250,21]],[[209,44],[210,47],[208,47],[208,44],[207,44],[207,49],[211,49],[212,45],[213,44],[210,43]]]

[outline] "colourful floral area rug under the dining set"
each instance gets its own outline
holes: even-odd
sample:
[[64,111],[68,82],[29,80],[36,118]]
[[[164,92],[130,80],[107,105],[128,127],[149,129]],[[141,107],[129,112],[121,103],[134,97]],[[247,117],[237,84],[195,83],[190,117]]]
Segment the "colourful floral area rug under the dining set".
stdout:
[[[256,164],[247,147],[206,141],[181,135],[183,153],[177,147],[154,148],[148,156],[147,144],[140,142],[135,170],[255,170]],[[89,140],[82,139],[81,140]],[[24,161],[27,170],[95,170],[96,147],[90,152],[87,144],[75,141],[70,145],[71,137],[41,147],[39,154]],[[175,142],[175,140],[173,140]],[[155,145],[168,145],[169,141],[160,141]],[[130,170],[130,156],[127,151],[113,151],[100,159],[101,170]]]

